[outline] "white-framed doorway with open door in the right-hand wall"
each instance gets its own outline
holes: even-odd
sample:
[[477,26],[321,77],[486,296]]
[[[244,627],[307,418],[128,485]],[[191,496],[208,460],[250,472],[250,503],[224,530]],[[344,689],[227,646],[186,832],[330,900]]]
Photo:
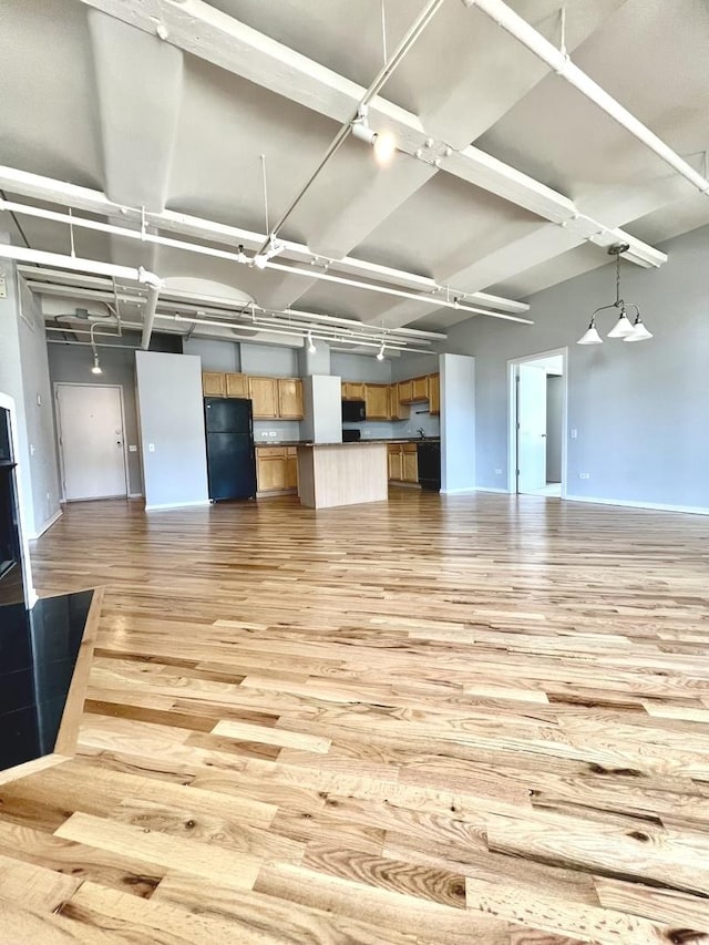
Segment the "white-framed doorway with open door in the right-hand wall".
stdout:
[[566,497],[567,349],[508,361],[507,491]]

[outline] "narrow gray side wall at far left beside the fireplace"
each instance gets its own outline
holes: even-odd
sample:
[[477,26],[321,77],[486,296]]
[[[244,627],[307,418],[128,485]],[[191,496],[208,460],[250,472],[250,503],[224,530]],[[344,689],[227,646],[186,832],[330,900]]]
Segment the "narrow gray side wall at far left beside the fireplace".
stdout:
[[3,261],[1,268],[7,298],[0,299],[0,390],[14,400],[23,525],[34,538],[60,510],[47,342],[32,297],[25,290],[19,297],[14,265]]

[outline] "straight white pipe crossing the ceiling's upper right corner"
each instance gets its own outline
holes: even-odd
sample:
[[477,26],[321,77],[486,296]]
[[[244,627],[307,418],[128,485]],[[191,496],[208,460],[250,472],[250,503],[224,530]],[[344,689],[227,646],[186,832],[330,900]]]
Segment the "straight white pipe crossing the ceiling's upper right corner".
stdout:
[[634,135],[678,174],[702,194],[709,195],[709,181],[702,177],[693,167],[665,144],[655,132],[638,121],[624,105],[609,95],[597,82],[575,65],[567,53],[556,49],[542,33],[531,27],[526,20],[514,12],[503,0],[463,0],[466,7],[477,7],[483,13],[502,27],[503,30],[525,45],[531,52],[545,62],[551,69],[577,89],[582,95],[618,122],[627,132]]

